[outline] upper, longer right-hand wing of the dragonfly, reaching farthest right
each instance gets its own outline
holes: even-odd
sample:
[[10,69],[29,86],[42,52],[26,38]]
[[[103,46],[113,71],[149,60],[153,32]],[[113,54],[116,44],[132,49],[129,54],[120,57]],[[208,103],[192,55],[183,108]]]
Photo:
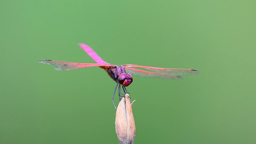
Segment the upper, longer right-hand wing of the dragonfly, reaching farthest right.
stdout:
[[193,69],[183,69],[183,68],[158,68],[158,67],[151,67],[151,66],[140,66],[135,64],[124,64],[125,67],[134,67],[134,68],[144,68],[146,70],[151,70],[154,72],[159,72],[163,74],[199,74],[198,70]]

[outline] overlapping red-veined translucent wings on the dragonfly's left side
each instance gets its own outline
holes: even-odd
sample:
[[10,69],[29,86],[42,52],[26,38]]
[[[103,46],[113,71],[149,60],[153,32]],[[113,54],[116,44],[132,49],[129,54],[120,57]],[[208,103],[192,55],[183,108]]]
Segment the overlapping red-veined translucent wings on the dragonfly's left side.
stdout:
[[56,66],[55,70],[74,70],[78,68],[92,67],[92,66],[114,66],[112,64],[90,64],[90,63],[76,63],[76,62],[62,62],[57,60],[40,60],[39,63],[51,64]]

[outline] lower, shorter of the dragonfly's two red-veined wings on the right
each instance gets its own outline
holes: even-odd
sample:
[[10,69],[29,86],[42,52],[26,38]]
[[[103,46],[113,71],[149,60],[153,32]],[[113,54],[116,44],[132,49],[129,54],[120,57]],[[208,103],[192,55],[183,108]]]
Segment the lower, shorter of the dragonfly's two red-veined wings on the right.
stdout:
[[164,78],[164,79],[174,79],[174,80],[181,80],[182,77],[172,74],[163,74],[158,72],[148,72],[145,70],[138,70],[136,68],[125,68],[126,72],[130,74],[135,74],[138,76],[147,76],[147,77],[155,77],[155,78]]

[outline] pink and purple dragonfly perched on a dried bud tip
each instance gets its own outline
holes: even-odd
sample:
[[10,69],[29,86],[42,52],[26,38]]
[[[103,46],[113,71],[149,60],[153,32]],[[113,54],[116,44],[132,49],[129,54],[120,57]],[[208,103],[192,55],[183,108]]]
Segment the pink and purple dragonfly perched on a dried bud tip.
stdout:
[[[116,87],[114,88],[114,94],[112,96],[112,103],[116,108],[114,103],[114,96],[118,88],[119,100],[121,99],[121,87],[125,94],[129,94],[126,89],[132,81],[132,74],[138,76],[147,76],[155,78],[164,78],[164,79],[173,79],[180,80],[183,74],[199,74],[198,70],[194,69],[183,69],[183,68],[158,68],[152,66],[140,66],[135,64],[122,64],[122,65],[113,65],[105,62],[98,56],[90,46],[86,44],[79,44],[79,46],[96,62],[96,63],[76,63],[76,62],[63,62],[58,60],[40,60],[40,63],[54,65],[55,70],[74,70],[78,68],[86,68],[98,66],[104,69],[110,78],[116,82]],[[140,68],[140,69],[138,69]],[[122,94],[124,95],[124,94]]]

